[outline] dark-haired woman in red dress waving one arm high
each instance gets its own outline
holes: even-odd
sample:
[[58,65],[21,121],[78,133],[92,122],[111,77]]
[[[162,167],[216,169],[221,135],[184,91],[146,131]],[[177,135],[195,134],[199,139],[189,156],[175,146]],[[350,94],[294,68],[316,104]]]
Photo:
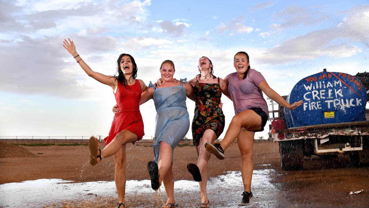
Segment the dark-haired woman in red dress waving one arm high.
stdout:
[[100,150],[97,138],[91,137],[89,141],[90,163],[96,165],[102,158],[114,155],[115,186],[119,197],[117,208],[125,207],[125,144],[141,140],[144,136],[144,123],[139,111],[141,93],[147,88],[142,80],[136,80],[137,65],[130,54],[121,54],[117,60],[118,76],[106,76],[92,69],[77,54],[73,41],[63,41],[64,48],[72,54],[73,58],[86,74],[95,80],[109,85],[115,95],[120,112],[114,115],[109,136],[105,140],[105,148]]

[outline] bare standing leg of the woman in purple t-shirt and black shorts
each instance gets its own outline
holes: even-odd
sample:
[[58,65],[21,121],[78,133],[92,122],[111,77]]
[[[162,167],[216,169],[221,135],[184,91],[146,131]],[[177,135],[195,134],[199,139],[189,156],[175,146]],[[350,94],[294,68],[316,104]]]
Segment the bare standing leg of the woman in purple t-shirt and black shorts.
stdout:
[[252,171],[254,166],[252,164],[252,145],[254,144],[254,131],[242,129],[237,137],[237,144],[241,152],[241,174],[242,182],[244,184],[244,191],[251,192]]

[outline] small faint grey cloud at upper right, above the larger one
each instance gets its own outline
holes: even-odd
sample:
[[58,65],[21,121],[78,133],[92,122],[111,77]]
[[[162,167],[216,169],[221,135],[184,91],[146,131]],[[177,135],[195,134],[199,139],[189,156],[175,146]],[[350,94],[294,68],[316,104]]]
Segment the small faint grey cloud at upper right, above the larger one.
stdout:
[[285,29],[296,27],[299,24],[309,26],[327,20],[330,16],[319,8],[320,7],[306,8],[297,6],[297,4],[292,4],[274,15],[279,18],[282,23],[272,24],[270,28]]

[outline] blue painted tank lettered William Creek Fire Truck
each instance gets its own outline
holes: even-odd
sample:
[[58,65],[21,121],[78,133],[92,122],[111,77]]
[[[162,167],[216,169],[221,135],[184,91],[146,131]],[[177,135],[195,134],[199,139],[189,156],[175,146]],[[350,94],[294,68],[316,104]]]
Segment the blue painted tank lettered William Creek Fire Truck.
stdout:
[[295,110],[284,108],[288,128],[316,124],[365,121],[368,100],[356,77],[323,71],[300,80],[287,97],[288,103],[303,100]]

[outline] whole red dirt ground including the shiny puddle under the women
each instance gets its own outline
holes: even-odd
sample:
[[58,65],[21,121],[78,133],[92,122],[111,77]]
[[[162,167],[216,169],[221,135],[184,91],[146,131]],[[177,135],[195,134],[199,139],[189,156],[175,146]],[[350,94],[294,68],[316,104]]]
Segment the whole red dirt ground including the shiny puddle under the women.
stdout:
[[[116,207],[118,201],[111,180],[114,171],[111,160],[105,160],[100,167],[89,167],[78,162],[86,157],[85,147],[27,149],[34,154],[43,154],[37,158],[0,158],[0,207]],[[195,162],[193,149],[180,147],[175,151],[173,169],[178,207],[199,207],[199,185],[190,181],[191,176],[183,165]],[[161,207],[162,200],[166,201],[164,188],[159,198],[156,197],[149,181],[142,180],[148,178],[142,174],[144,168],[138,168],[138,163],[142,161],[144,167],[151,159],[152,149],[131,146],[130,151],[136,157],[134,161],[127,161],[131,168],[127,169],[126,207]],[[227,155],[229,157],[224,161],[211,158],[210,166],[215,176],[211,175],[208,181],[210,207],[239,207],[242,199],[237,145],[232,144]],[[128,151],[127,157],[132,157]],[[75,162],[65,164],[68,160]],[[369,207],[369,167],[350,167],[346,156],[332,160],[313,156],[304,159],[304,170],[283,171],[279,167],[278,144],[263,142],[254,144],[253,160],[252,192],[255,198],[247,207]],[[101,175],[106,181],[101,180]],[[64,181],[42,179],[45,176]],[[364,191],[360,194],[348,194],[361,189]]]

